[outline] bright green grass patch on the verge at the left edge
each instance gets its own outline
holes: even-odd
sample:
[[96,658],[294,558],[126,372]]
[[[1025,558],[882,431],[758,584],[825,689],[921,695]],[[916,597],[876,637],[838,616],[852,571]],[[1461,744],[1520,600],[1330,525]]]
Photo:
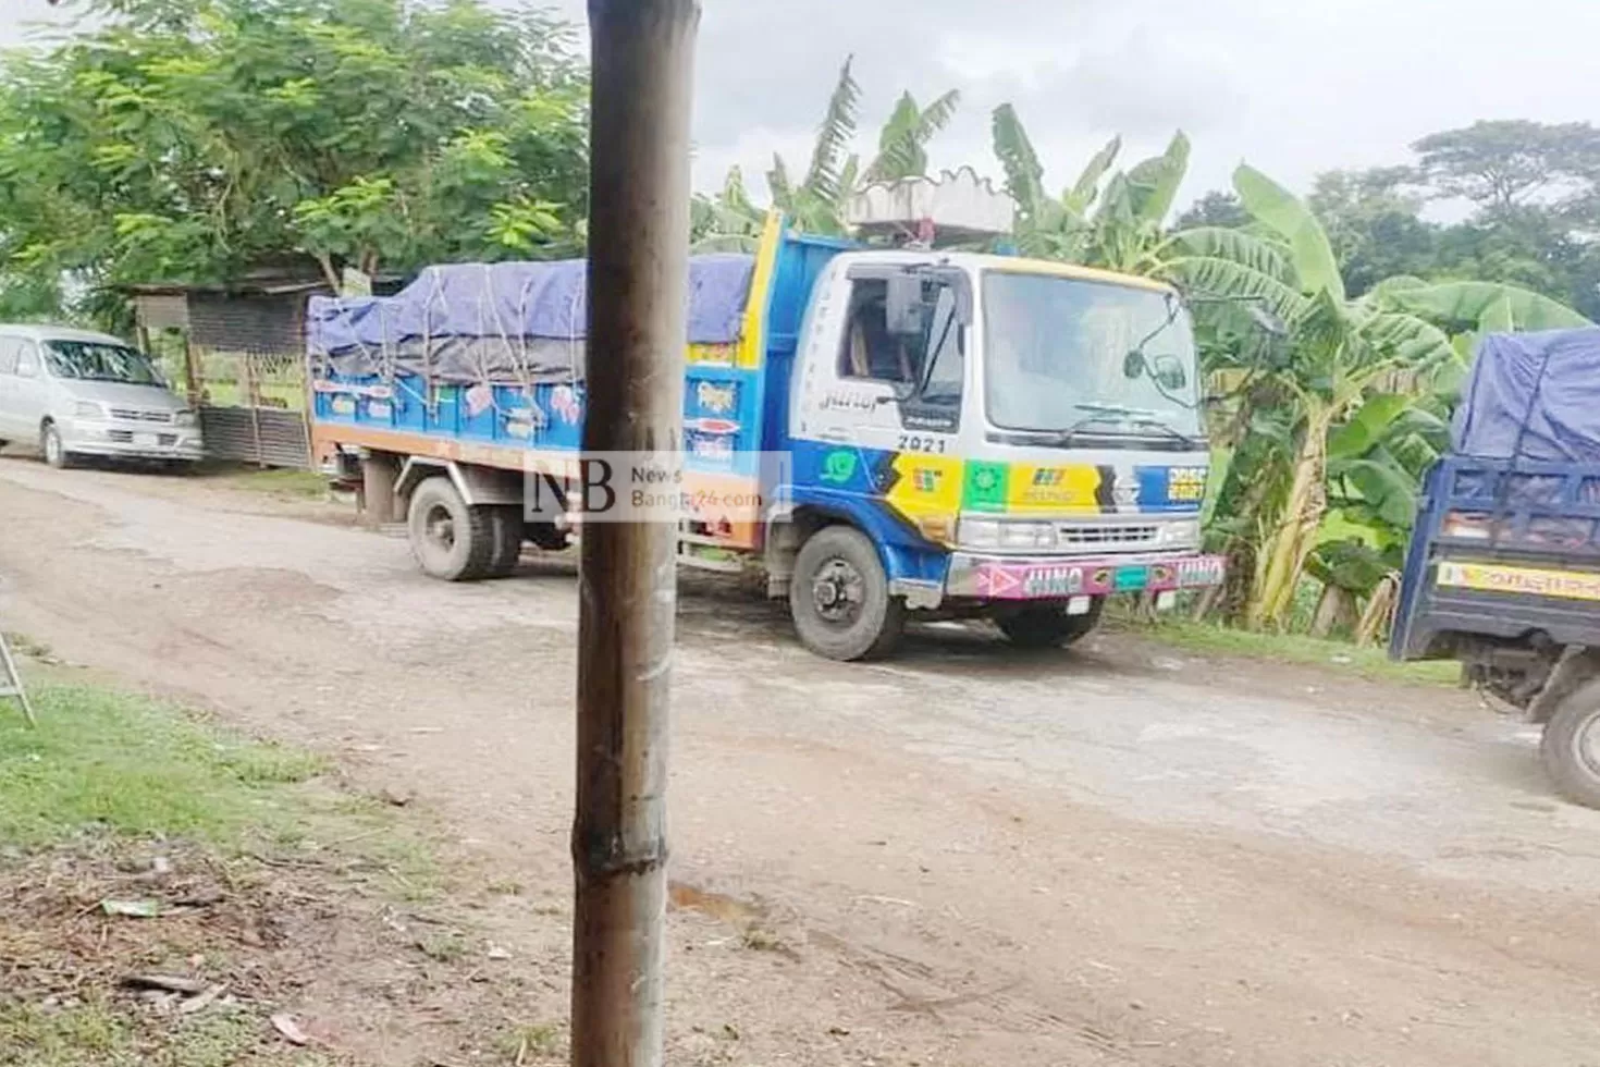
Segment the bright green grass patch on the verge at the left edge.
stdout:
[[237,845],[291,832],[285,785],[323,761],[206,728],[178,709],[90,686],[30,691],[38,728],[0,709],[0,840],[38,848],[85,829]]

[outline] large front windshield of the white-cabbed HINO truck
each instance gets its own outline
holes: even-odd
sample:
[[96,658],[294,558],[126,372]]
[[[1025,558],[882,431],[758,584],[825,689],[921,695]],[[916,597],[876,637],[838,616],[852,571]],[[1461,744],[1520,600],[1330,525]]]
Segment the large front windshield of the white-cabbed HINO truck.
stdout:
[[994,426],[1200,437],[1194,330],[1174,294],[1003,270],[982,288]]

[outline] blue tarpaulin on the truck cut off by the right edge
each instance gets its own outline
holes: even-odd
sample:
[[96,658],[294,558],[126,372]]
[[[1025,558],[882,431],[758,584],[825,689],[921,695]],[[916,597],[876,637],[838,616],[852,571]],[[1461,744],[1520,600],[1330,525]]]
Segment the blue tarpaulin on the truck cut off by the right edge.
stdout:
[[1600,464],[1600,328],[1483,338],[1451,429],[1467,456]]

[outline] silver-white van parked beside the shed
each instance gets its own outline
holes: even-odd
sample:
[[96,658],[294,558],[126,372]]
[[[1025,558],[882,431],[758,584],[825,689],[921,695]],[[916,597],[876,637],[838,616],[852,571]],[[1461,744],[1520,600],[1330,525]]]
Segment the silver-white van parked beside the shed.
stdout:
[[78,456],[197,461],[195,413],[150,360],[104,333],[0,325],[0,445],[38,442],[51,467]]

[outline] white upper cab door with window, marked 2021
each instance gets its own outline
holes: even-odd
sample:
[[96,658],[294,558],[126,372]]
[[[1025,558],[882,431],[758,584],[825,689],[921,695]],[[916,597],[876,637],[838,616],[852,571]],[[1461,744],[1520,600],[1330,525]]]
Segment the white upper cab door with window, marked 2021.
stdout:
[[890,453],[955,451],[966,379],[966,328],[954,278],[918,277],[920,326],[891,322],[891,278],[902,269],[856,269],[834,326],[837,350],[803,374],[797,435]]

